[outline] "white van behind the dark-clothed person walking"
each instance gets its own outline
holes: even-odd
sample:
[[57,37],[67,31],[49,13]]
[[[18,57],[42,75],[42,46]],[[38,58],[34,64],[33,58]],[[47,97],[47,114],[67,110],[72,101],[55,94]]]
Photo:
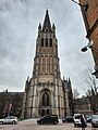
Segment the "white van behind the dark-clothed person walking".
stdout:
[[81,127],[82,122],[81,122],[81,117],[83,116],[84,120],[85,120],[85,126],[87,127],[87,122],[86,122],[86,118],[84,115],[82,114],[74,114],[74,127]]

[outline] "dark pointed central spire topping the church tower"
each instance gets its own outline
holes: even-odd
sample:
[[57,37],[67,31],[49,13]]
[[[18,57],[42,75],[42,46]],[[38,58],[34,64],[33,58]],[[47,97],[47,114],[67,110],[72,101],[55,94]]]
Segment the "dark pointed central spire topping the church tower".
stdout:
[[42,25],[42,30],[51,30],[51,23],[48,14],[48,10],[46,10],[46,16]]

